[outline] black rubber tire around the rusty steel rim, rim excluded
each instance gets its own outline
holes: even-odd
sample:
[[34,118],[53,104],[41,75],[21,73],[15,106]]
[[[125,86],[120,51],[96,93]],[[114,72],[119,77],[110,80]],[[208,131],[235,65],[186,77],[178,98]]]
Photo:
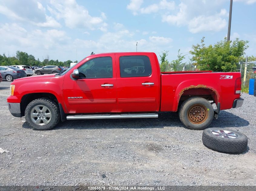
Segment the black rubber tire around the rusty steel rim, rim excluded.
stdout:
[[[207,117],[205,116],[205,119],[203,119],[203,122],[201,122],[201,123],[196,123],[196,122],[192,123],[188,117],[189,110],[191,109],[191,107],[196,106],[196,105],[205,107],[205,109],[207,110],[206,111]],[[181,104],[181,107],[179,109],[179,118],[180,118],[181,122],[183,123],[183,125],[185,125],[189,129],[193,129],[193,130],[200,130],[200,129],[204,129],[204,128],[208,127],[211,124],[213,117],[214,117],[214,109],[213,109],[211,103],[209,103],[208,100],[201,98],[201,97],[191,97],[191,98],[185,100]]]

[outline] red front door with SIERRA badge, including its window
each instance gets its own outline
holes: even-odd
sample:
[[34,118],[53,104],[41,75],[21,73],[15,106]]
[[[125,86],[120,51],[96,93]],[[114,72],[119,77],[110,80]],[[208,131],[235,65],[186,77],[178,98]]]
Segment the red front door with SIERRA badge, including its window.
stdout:
[[77,69],[79,78],[65,75],[63,83],[68,113],[117,112],[115,54],[92,58]]

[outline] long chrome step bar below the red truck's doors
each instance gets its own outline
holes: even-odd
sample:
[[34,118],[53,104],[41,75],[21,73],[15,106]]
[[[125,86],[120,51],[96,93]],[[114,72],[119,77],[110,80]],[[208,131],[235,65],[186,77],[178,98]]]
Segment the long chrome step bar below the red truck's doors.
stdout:
[[100,114],[100,115],[68,115],[67,119],[121,119],[121,118],[158,118],[157,113],[138,114]]

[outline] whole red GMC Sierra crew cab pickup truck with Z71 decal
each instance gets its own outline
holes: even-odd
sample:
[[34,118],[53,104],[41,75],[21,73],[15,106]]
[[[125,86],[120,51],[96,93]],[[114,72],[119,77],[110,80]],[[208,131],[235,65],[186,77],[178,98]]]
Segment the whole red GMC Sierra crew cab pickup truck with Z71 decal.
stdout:
[[38,130],[66,119],[155,118],[159,111],[179,111],[185,126],[204,129],[220,110],[243,104],[239,72],[160,72],[156,54],[142,52],[91,54],[65,72],[17,79],[10,89],[12,115]]

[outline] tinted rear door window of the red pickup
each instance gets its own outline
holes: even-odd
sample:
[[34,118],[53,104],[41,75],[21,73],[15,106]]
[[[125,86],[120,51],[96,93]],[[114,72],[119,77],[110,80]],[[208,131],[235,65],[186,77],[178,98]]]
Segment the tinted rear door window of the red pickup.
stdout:
[[119,63],[121,77],[144,77],[152,72],[147,56],[121,56]]

